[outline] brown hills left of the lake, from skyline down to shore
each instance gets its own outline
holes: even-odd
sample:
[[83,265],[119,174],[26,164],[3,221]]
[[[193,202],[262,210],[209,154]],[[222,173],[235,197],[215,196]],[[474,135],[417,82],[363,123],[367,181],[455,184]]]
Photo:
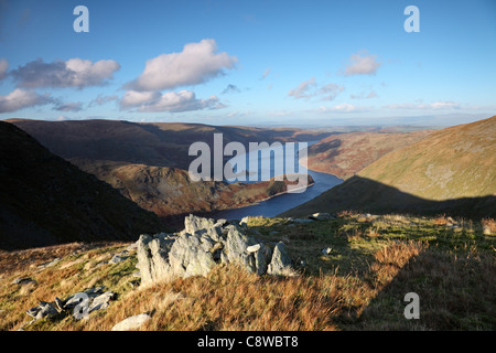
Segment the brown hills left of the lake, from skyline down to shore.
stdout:
[[[256,184],[192,182],[188,156],[196,141],[213,148],[214,133],[224,145],[238,141],[310,141],[330,132],[301,129],[217,127],[202,124],[136,124],[116,120],[10,120],[53,153],[96,175],[152,211],[168,225],[182,224],[188,213],[208,214],[246,206],[285,191],[282,182]],[[313,182],[310,180],[310,182]]]

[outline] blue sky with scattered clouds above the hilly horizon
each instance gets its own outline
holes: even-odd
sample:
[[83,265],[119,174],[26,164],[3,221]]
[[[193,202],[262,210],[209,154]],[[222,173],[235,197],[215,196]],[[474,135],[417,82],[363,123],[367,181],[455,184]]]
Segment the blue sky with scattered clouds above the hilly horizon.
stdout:
[[494,0],[0,0],[0,119],[451,126],[495,57]]

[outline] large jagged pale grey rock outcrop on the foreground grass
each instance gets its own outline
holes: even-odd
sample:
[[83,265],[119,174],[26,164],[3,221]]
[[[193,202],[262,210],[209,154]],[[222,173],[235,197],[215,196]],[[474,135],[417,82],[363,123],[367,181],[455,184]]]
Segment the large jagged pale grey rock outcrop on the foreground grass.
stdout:
[[141,235],[137,242],[141,284],[206,276],[217,264],[236,264],[257,275],[287,274],[292,264],[285,245],[257,240],[246,234],[245,224],[190,215],[179,234]]

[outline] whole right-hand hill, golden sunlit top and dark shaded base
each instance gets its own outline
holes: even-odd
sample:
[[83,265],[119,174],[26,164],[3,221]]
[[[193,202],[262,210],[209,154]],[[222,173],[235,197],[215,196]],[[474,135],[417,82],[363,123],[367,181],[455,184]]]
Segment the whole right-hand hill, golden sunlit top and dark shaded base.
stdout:
[[496,117],[435,131],[282,215],[345,210],[496,217]]

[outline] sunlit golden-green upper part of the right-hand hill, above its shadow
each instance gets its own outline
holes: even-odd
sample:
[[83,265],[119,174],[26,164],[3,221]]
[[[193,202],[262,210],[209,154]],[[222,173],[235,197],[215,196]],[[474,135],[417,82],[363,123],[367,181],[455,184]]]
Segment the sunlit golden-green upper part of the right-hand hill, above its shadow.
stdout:
[[496,116],[435,131],[358,175],[428,200],[495,195]]

